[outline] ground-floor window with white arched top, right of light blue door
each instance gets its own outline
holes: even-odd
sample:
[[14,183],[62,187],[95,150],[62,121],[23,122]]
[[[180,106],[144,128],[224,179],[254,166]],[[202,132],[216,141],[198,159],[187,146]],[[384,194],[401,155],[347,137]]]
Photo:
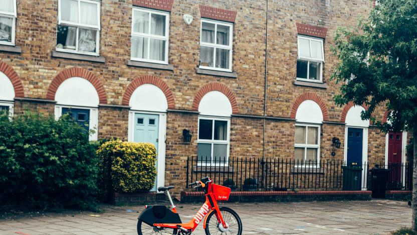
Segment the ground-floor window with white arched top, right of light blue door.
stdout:
[[200,165],[228,164],[232,104],[220,91],[206,93],[198,105],[197,162]]

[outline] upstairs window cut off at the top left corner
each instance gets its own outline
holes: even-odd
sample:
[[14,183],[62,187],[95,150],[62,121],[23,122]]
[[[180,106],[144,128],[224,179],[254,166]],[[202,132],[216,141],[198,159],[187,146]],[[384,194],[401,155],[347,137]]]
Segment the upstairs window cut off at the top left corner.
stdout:
[[0,4],[0,44],[15,45],[16,0],[2,0]]

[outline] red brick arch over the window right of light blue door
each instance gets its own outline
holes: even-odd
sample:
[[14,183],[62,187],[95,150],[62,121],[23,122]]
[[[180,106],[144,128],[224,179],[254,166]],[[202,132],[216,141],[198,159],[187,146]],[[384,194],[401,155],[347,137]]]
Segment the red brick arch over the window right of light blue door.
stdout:
[[192,102],[193,111],[198,111],[198,105],[200,104],[202,97],[210,91],[219,91],[226,95],[230,101],[230,104],[232,104],[232,113],[239,113],[238,102],[236,101],[235,95],[229,89],[229,87],[225,86],[220,82],[212,82],[209,84],[205,84],[203,87],[201,87],[200,90],[198,90],[197,94],[194,97],[194,101]]

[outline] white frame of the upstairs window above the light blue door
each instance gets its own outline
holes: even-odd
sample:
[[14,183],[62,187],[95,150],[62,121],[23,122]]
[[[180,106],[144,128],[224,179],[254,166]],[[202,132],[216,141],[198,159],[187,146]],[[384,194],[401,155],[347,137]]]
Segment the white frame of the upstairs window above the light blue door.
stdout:
[[[133,19],[134,19],[134,14],[135,12],[145,12],[149,14],[149,21],[148,21],[148,29],[149,32],[147,34],[145,33],[137,33],[137,32],[133,32]],[[160,15],[160,16],[165,16],[165,36],[160,36],[160,35],[154,35],[151,34],[151,19],[152,19],[152,14],[154,15]],[[156,64],[168,64],[168,50],[169,50],[169,13],[167,12],[161,12],[161,11],[155,11],[155,10],[149,10],[149,9],[143,9],[143,8],[133,8],[132,9],[132,25],[131,25],[131,36],[135,36],[135,37],[143,37],[143,38],[148,38],[148,39],[159,39],[159,40],[165,40],[165,60],[151,60],[151,59],[143,59],[143,58],[137,58],[137,57],[132,57],[132,49],[130,47],[130,60],[136,60],[136,61],[143,61],[143,62],[149,62],[149,63],[156,63]],[[148,40],[148,46],[147,46],[148,50],[148,54],[147,54],[147,58],[149,58],[149,53],[150,53],[150,40]]]

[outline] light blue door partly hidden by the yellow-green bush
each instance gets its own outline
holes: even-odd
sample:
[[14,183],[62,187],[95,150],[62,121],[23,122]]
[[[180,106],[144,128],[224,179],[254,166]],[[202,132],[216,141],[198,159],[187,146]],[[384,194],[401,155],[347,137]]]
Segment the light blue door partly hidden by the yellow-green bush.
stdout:
[[[159,115],[135,113],[135,142],[146,142],[155,145],[156,156],[158,156],[158,133],[159,133]],[[158,163],[156,162],[156,166]],[[155,166],[155,167],[156,167]],[[151,191],[156,191],[156,179],[155,184]]]

